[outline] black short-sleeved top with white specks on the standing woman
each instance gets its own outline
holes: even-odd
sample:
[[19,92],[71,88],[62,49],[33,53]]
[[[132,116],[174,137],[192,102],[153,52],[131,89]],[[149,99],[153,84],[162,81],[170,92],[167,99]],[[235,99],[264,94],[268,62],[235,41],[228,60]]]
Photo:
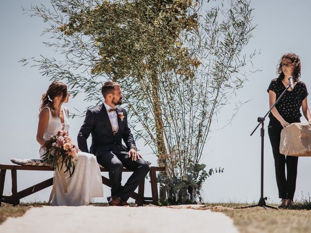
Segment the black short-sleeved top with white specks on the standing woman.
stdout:
[[[281,79],[276,78],[273,79],[268,87],[269,90],[272,90],[276,93],[276,100],[282,94],[282,92],[286,89]],[[290,89],[290,88],[289,88]],[[286,120],[286,119],[297,119],[301,116],[300,107],[302,104],[302,100],[304,100],[308,96],[308,91],[306,84],[298,81],[296,83],[294,90],[287,90],[284,96],[278,101],[276,104],[276,109],[278,113]],[[269,113],[269,117],[275,118],[272,113]]]

